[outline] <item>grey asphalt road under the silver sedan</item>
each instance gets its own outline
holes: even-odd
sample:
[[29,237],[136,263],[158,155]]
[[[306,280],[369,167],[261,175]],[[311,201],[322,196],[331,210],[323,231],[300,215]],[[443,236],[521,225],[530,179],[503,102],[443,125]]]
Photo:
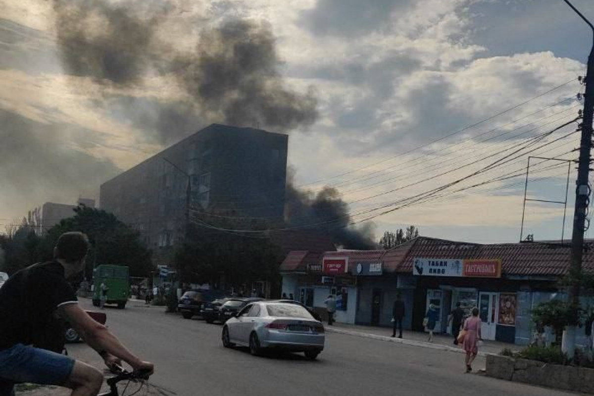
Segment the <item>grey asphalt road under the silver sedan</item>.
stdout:
[[[90,300],[82,300],[91,308]],[[570,395],[464,373],[463,355],[350,335],[326,335],[326,349],[311,362],[301,354],[252,357],[223,348],[220,325],[166,314],[131,302],[106,309],[108,325],[132,351],[156,365],[151,382],[180,396],[509,396]],[[72,356],[98,362],[85,344]],[[478,359],[476,368],[484,368]]]

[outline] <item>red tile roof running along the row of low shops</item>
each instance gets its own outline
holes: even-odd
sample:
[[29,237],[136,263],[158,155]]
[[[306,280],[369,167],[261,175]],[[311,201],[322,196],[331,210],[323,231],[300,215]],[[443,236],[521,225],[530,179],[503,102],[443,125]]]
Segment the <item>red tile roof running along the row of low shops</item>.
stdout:
[[[560,276],[567,273],[570,247],[558,243],[478,243],[418,237],[387,251],[290,252],[281,271],[306,271],[307,264],[320,264],[323,256],[347,256],[350,260],[383,261],[384,272],[412,273],[415,257],[501,259],[505,275]],[[583,257],[583,268],[594,272],[594,246]]]

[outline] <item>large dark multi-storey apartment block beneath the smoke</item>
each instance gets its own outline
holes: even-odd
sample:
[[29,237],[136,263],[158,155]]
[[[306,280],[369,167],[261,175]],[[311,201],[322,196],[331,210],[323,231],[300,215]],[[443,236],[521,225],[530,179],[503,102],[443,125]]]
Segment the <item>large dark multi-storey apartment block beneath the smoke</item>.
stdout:
[[100,207],[137,229],[158,264],[184,236],[188,176],[193,210],[233,209],[282,220],[284,134],[213,124],[105,182]]

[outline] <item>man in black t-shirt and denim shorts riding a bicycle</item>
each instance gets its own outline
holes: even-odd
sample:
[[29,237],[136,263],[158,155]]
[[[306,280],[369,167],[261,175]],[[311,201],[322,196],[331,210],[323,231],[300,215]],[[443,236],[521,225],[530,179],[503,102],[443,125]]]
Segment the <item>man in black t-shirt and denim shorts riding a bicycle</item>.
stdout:
[[14,395],[14,384],[30,382],[72,389],[72,396],[95,396],[103,374],[93,366],[60,354],[64,328],[74,327],[108,367],[127,362],[134,370],[153,373],[105,326],[80,306],[67,278],[84,268],[89,239],[80,232],[62,234],[53,261],[34,264],[12,275],[0,289],[0,396]]

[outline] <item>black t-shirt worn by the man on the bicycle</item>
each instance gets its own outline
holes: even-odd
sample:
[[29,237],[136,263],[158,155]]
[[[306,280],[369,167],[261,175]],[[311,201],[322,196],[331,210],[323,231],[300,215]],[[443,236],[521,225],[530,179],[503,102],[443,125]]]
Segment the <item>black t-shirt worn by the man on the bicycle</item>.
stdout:
[[56,329],[56,308],[77,302],[59,262],[18,271],[0,287],[0,350],[18,343],[36,345],[44,331]]

